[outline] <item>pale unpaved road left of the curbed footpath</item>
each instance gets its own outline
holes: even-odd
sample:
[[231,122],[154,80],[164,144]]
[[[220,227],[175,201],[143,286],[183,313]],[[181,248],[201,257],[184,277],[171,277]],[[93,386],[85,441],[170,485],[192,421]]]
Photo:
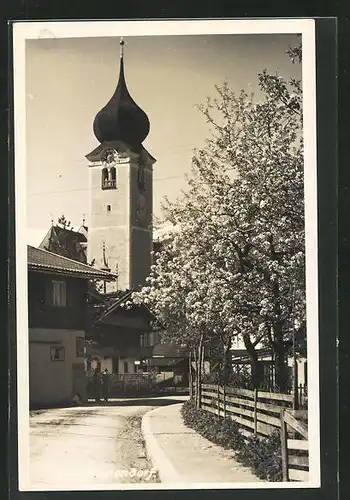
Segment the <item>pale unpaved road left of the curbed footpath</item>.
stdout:
[[32,486],[90,489],[101,484],[158,482],[145,453],[141,418],[175,402],[171,397],[140,398],[32,412]]

